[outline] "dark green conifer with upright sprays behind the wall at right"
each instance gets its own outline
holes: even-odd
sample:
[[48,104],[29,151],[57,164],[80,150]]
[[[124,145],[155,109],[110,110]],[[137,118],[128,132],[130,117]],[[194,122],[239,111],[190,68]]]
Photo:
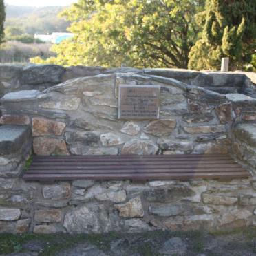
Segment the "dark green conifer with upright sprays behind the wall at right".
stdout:
[[231,70],[250,63],[256,47],[255,10],[251,0],[206,0],[197,19],[204,27],[189,53],[189,68],[219,70],[222,57],[230,58]]

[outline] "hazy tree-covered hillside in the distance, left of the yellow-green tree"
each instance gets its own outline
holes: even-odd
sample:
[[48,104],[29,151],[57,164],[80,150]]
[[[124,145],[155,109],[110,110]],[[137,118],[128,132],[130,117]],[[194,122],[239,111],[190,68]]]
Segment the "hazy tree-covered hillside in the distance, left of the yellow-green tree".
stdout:
[[58,17],[63,6],[6,6],[5,27],[19,28],[25,34],[66,32],[69,23]]

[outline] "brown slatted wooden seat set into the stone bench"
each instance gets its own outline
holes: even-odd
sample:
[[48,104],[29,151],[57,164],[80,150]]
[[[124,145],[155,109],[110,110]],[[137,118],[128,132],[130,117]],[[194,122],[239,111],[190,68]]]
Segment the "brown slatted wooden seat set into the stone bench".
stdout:
[[228,155],[34,156],[24,180],[248,178]]

